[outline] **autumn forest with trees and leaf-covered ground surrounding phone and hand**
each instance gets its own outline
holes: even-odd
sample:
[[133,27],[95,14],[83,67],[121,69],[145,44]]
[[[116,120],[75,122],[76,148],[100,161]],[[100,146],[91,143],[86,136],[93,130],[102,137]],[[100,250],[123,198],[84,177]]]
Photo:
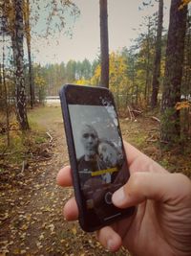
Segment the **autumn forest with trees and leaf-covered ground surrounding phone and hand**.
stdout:
[[[144,16],[131,47],[110,51],[108,3],[99,0],[95,59],[42,65],[32,59],[40,0],[0,0],[0,255],[113,255],[77,222],[63,220],[63,204],[74,192],[55,184],[69,158],[60,105],[46,99],[58,96],[65,83],[78,84],[79,90],[80,85],[109,88],[123,139],[169,172],[191,177],[191,1],[171,0],[167,29],[165,1],[140,2],[139,9],[157,2],[158,11]],[[72,33],[67,13],[80,16],[75,1],[46,4],[40,36]],[[127,251],[122,247],[117,255]]]

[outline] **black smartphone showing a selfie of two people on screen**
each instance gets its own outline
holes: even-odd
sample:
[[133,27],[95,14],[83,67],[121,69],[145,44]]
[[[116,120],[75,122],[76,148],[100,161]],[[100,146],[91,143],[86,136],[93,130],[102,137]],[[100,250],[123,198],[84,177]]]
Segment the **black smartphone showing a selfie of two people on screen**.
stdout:
[[119,209],[112,203],[113,193],[129,178],[112,93],[66,84],[60,101],[82,229],[95,231],[131,216],[134,207]]

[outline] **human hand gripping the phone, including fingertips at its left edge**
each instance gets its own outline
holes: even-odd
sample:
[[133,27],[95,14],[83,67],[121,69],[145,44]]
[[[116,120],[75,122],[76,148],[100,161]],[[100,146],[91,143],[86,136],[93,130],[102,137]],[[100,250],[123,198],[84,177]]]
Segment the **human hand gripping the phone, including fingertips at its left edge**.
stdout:
[[[124,143],[130,178],[113,195],[119,208],[137,205],[133,217],[117,221],[97,231],[97,239],[111,251],[121,245],[133,255],[191,255],[191,182],[180,174],[170,174],[158,163]],[[57,175],[59,185],[73,184],[71,169]],[[64,207],[68,221],[78,217],[76,201]]]

